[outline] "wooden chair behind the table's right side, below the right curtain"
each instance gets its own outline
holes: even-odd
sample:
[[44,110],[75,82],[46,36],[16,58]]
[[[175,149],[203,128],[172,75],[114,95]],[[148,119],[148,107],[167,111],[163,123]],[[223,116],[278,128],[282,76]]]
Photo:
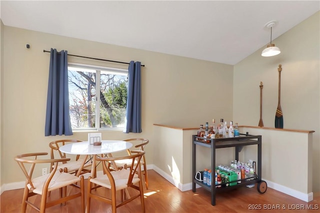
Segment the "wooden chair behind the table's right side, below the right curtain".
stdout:
[[[126,139],[123,141],[131,142],[133,143],[133,148],[126,150],[128,155],[132,154],[132,151],[134,150],[141,150],[144,151],[145,145],[149,143],[148,139],[144,138],[131,138],[131,139]],[[129,164],[130,159],[122,159],[122,160],[116,160],[114,161],[116,167],[124,167],[125,164]],[[136,165],[137,162],[134,162],[134,165]],[[146,161],[145,161],[145,155],[142,156],[141,158],[141,163],[140,163],[142,169],[141,169],[141,174],[144,176],[144,183],[145,183],[145,188],[148,189],[148,174],[146,170]]]

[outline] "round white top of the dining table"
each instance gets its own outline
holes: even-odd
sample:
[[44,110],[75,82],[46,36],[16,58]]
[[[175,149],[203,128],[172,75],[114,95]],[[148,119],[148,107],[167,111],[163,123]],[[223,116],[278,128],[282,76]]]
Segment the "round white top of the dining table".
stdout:
[[132,147],[132,144],[126,141],[102,140],[101,142],[101,146],[90,145],[87,141],[70,143],[60,147],[59,150],[73,155],[99,155],[119,152]]

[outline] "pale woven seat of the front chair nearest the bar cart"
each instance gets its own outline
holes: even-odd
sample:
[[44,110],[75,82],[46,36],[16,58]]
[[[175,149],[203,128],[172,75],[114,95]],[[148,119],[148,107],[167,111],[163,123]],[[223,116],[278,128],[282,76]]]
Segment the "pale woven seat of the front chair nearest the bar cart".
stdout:
[[[132,160],[131,160],[132,162]],[[122,169],[118,171],[112,171],[110,172],[115,183],[115,189],[116,191],[122,190],[127,188],[127,181],[128,181],[128,176],[130,173],[130,170],[127,169]],[[132,179],[132,184],[136,184],[140,181],[138,178],[137,174],[134,174],[133,179]],[[90,182],[93,184],[100,185],[102,187],[111,189],[110,181],[106,175],[99,175],[96,178],[90,179]]]

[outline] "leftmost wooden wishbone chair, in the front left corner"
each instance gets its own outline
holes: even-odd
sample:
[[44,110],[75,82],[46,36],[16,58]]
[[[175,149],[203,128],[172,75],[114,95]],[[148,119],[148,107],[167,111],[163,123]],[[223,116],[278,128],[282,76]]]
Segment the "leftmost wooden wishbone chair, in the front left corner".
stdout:
[[[48,153],[28,153],[18,155],[14,160],[20,166],[24,176],[26,177],[24,192],[22,198],[21,213],[26,212],[26,207],[29,205],[31,208],[40,213],[44,213],[46,208],[55,206],[57,204],[65,204],[66,201],[80,197],[81,199],[81,212],[84,212],[84,179],[83,176],[76,177],[74,175],[64,173],[62,169],[57,170],[58,163],[62,161],[69,161],[70,159],[37,159],[38,156],[45,156]],[[53,163],[53,169],[47,175],[32,178],[33,170],[36,164]],[[27,171],[27,167],[29,170]],[[80,183],[80,186],[77,185]],[[66,194],[67,186],[77,189],[76,193]],[[47,193],[59,189],[59,198],[47,199]],[[40,195],[40,206],[36,206],[32,201],[36,199],[28,199],[32,196]]]

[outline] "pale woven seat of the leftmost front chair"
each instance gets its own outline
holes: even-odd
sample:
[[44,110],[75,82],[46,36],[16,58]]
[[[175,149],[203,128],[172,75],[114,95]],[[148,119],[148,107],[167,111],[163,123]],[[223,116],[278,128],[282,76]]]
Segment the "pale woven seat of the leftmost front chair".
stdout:
[[[37,178],[32,179],[32,184],[34,186],[34,190],[33,193],[42,195],[42,188],[44,185],[45,180],[47,179],[47,177],[50,174],[44,175],[44,176],[40,176]],[[70,185],[70,184],[74,184],[76,182],[80,182],[80,178],[76,177],[74,175],[68,174],[68,173],[60,173],[60,172],[56,172],[53,175],[53,178],[50,181],[50,184],[48,186],[48,192],[52,191],[52,190],[56,190],[59,189],[61,187]],[[31,185],[27,184],[27,188],[30,190]]]

